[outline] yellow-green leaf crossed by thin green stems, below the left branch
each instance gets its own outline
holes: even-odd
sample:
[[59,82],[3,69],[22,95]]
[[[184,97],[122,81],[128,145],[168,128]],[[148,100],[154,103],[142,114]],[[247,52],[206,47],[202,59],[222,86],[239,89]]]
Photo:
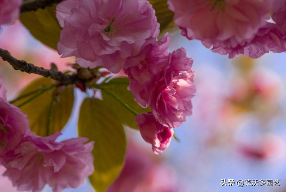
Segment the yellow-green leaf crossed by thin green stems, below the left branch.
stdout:
[[[51,85],[51,78],[38,78],[25,87],[18,97],[29,95],[27,93],[34,92],[35,90],[41,90],[41,88],[49,87]],[[72,114],[74,87],[69,85],[65,86],[59,95],[56,96],[53,113],[51,114],[50,123],[48,124],[51,103],[53,101],[53,93],[55,90],[56,88],[53,87],[51,90],[44,92],[20,108],[24,114],[28,115],[31,130],[40,136],[47,135],[47,125],[50,127],[49,135],[62,130]],[[20,100],[16,100],[13,104],[15,106],[21,105],[33,96],[34,95],[29,95],[28,97],[21,98]]]

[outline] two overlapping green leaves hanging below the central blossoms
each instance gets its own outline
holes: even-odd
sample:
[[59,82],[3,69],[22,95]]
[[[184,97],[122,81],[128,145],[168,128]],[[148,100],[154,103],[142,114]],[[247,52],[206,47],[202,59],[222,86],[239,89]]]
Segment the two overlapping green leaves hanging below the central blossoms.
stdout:
[[135,102],[128,84],[127,77],[119,77],[94,85],[101,89],[102,100],[86,99],[81,108],[79,134],[95,141],[95,172],[90,181],[96,192],[105,192],[123,166],[126,139],[122,125],[136,128],[136,113],[150,111]]

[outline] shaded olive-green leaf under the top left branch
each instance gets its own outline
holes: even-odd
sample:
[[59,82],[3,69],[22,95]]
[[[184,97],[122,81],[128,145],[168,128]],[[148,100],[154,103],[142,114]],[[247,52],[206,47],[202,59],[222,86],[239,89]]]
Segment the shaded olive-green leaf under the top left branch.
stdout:
[[57,50],[62,27],[56,18],[56,4],[45,9],[23,13],[20,15],[20,20],[37,40]]

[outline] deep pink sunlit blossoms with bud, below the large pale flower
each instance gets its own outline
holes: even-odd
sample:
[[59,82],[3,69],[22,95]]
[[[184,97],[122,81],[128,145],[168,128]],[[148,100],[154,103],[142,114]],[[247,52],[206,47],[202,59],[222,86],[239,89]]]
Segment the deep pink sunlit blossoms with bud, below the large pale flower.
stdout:
[[144,60],[124,69],[135,100],[143,107],[151,107],[151,113],[137,115],[136,122],[155,154],[161,154],[169,146],[173,129],[191,115],[191,98],[195,93],[193,61],[184,48],[168,53],[170,40],[167,34],[161,42],[147,48]]

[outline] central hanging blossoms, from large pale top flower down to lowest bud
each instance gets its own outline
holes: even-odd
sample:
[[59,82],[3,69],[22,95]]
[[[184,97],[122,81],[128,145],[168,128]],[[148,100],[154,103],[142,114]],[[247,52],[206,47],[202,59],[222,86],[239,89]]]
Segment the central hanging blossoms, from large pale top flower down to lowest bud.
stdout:
[[191,115],[195,92],[185,49],[169,53],[171,37],[158,41],[159,23],[147,0],[66,0],[57,5],[63,27],[58,53],[77,56],[82,67],[124,70],[128,90],[152,113],[136,118],[143,139],[162,153]]

